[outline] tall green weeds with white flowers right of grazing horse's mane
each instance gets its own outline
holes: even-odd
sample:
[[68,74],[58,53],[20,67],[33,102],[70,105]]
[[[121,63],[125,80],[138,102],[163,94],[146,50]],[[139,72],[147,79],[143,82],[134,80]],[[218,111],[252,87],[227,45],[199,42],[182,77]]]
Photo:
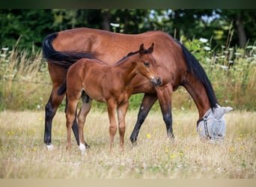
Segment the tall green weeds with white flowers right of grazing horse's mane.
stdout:
[[212,49],[206,39],[186,40],[185,45],[201,62],[222,105],[255,110],[256,47],[222,46]]

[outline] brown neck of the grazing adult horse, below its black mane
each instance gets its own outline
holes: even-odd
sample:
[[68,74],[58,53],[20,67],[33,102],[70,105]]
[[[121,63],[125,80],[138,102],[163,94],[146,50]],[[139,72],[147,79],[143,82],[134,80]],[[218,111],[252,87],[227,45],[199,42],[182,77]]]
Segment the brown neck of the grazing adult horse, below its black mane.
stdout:
[[204,85],[194,76],[186,76],[186,83],[183,85],[189,92],[190,96],[198,108],[199,119],[211,108],[210,99]]

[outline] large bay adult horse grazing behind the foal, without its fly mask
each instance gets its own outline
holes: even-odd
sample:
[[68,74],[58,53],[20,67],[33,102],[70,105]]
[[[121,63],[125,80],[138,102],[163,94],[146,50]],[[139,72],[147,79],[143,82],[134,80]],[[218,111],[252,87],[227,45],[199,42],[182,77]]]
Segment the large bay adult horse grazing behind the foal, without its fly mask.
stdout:
[[[44,142],[52,147],[52,118],[65,94],[58,95],[58,89],[64,82],[67,69],[52,64],[52,61],[64,61],[67,68],[80,58],[99,58],[108,64],[114,64],[127,52],[135,51],[144,43],[155,43],[154,58],[161,71],[162,87],[153,87],[143,76],[132,79],[132,93],[144,93],[138,119],[130,140],[137,139],[141,124],[147,117],[152,105],[159,100],[162,117],[165,121],[168,137],[174,137],[172,130],[171,97],[173,91],[182,85],[186,88],[198,108],[199,119],[209,108],[217,107],[217,99],[204,69],[195,57],[168,34],[162,31],[148,31],[143,34],[118,34],[92,28],[74,28],[50,34],[43,40],[43,55],[48,61],[49,75],[52,79],[52,93],[46,104]],[[73,132],[79,143],[76,120]]]

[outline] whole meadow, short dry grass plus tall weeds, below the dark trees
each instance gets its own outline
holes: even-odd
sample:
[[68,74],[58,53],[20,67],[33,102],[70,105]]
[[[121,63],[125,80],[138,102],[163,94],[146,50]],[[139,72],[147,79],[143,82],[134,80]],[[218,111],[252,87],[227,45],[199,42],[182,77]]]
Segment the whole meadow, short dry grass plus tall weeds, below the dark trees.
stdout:
[[209,144],[198,138],[198,111],[187,91],[179,88],[172,103],[174,141],[166,137],[156,103],[141,127],[138,144],[132,147],[129,135],[143,96],[138,94],[129,99],[124,153],[118,148],[118,133],[115,149],[109,153],[106,105],[94,102],[85,124],[85,139],[91,145],[86,156],[74,137],[72,150],[65,148],[64,103],[53,120],[54,149],[49,151],[43,144],[43,107],[51,81],[41,52],[1,48],[0,178],[255,179],[256,46],[216,50],[202,38],[184,44],[201,62],[220,104],[234,108],[225,114],[225,142]]

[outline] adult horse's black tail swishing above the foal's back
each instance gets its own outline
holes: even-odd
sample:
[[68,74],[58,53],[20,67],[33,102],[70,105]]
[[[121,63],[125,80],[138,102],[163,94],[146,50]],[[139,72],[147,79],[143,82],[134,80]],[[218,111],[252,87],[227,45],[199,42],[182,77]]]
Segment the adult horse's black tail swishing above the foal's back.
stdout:
[[52,41],[58,37],[58,33],[49,34],[42,43],[43,57],[51,64],[68,69],[72,64],[81,58],[97,59],[97,52],[79,51],[56,51],[52,46]]

